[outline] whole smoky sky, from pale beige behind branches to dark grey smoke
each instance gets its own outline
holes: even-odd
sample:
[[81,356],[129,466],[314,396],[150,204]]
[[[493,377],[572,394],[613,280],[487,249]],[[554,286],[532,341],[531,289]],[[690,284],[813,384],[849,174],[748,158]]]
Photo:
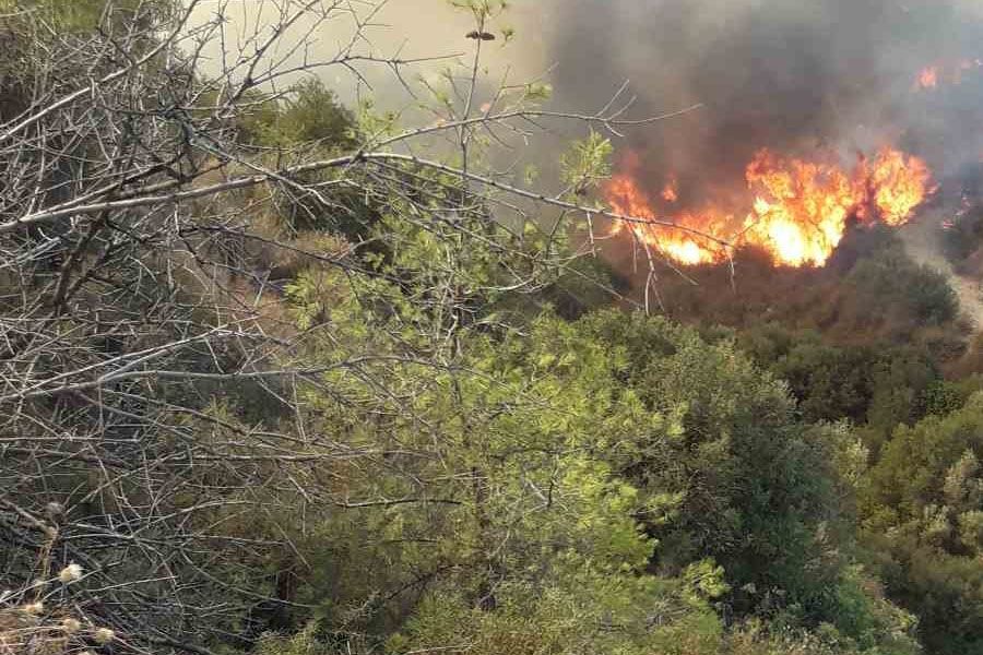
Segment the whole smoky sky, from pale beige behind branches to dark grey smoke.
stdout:
[[[256,10],[262,4],[238,3],[230,29],[268,24],[271,13]],[[214,5],[205,3],[199,20]],[[710,174],[739,180],[760,147],[829,146],[845,156],[884,140],[907,140],[948,166],[976,156],[976,140],[966,135],[983,133],[976,109],[983,88],[927,98],[912,96],[911,85],[922,67],[983,58],[981,24],[983,0],[513,0],[492,31],[514,27],[516,39],[486,44],[482,72],[494,84],[506,67],[512,82],[549,70],[554,106],[564,109],[592,111],[626,80],[639,96],[637,116],[703,103],[683,120],[631,132],[629,143],[646,155],[653,179],[673,170],[709,182]],[[447,0],[389,0],[360,50],[466,53],[472,28],[471,16]],[[308,56],[331,58],[351,31],[344,17],[322,26]],[[210,53],[218,61],[215,45]],[[408,68],[404,79],[413,84],[449,63]],[[408,104],[390,71],[360,70],[378,104]],[[342,99],[354,99],[355,79],[342,67],[321,76]]]

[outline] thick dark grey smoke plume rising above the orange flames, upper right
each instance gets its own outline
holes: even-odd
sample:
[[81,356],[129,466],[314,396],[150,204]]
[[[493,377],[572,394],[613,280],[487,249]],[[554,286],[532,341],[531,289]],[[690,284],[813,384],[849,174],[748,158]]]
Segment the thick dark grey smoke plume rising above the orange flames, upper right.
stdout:
[[[759,148],[844,160],[891,142],[939,176],[983,154],[983,9],[943,0],[562,0],[544,21],[558,100],[603,105],[630,79],[636,114],[702,109],[630,134],[653,188],[683,204],[739,186]],[[916,88],[919,72],[958,84]]]

